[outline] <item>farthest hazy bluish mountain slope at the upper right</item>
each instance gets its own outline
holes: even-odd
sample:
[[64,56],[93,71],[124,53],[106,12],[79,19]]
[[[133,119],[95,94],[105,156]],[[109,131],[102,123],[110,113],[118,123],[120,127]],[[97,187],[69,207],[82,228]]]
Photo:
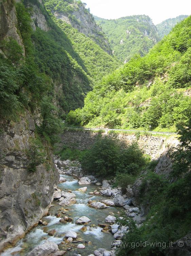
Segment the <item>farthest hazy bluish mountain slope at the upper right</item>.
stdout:
[[176,18],[166,19],[163,22],[156,25],[158,35],[160,39],[162,39],[165,35],[168,35],[172,28],[178,23],[181,22],[183,19],[187,18],[188,15],[179,15]]

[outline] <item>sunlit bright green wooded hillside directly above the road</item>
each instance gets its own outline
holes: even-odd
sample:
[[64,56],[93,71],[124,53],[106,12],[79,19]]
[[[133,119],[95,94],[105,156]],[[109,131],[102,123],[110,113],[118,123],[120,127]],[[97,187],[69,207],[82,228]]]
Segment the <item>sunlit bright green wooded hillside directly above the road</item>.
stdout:
[[91,127],[174,131],[191,114],[191,17],[144,56],[103,78],[69,123]]

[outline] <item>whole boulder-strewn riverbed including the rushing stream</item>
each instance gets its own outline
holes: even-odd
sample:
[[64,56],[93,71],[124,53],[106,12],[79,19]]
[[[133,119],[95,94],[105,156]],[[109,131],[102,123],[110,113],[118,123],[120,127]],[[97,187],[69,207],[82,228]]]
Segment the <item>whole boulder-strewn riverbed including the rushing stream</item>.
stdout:
[[140,226],[144,218],[130,188],[122,195],[112,181],[84,176],[77,161],[55,161],[60,173],[48,216],[2,256],[94,255],[113,256],[128,226],[119,227],[116,216],[124,211]]

